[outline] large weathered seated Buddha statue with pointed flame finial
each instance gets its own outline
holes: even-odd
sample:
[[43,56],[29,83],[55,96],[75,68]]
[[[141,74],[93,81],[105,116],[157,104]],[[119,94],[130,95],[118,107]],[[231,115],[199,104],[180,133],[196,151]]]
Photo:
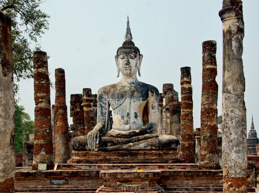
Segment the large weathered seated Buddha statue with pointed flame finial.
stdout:
[[[175,150],[179,140],[172,135],[158,135],[159,92],[140,82],[137,72],[143,55],[132,41],[127,20],[125,41],[115,56],[118,83],[104,86],[97,96],[97,125],[87,135],[72,139],[74,150]],[[110,107],[114,113],[112,129],[107,130]]]

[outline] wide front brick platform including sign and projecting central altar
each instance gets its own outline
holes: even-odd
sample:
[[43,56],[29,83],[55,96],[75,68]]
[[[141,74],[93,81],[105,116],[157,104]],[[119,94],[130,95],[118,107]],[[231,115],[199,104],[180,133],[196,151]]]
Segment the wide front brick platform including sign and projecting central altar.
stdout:
[[[71,164],[66,165],[71,166]],[[74,164],[72,164],[74,165]],[[88,164],[86,164],[88,165]],[[124,170],[73,169],[33,171],[31,167],[16,170],[15,191],[18,192],[120,192],[122,184],[139,185],[138,193],[146,192],[222,192],[222,170],[199,170],[194,164],[170,164],[175,169]],[[175,166],[174,166],[175,165]],[[62,166],[62,165],[61,165]],[[154,165],[153,165],[154,166]],[[64,167],[64,166],[63,166]],[[81,167],[81,168],[80,168]],[[189,169],[181,169],[189,168]],[[190,169],[191,168],[191,169]],[[248,171],[248,177],[251,172]],[[147,182],[148,181],[148,182]],[[61,182],[53,184],[51,182]],[[145,183],[144,183],[145,182]],[[249,187],[248,192],[255,192]]]

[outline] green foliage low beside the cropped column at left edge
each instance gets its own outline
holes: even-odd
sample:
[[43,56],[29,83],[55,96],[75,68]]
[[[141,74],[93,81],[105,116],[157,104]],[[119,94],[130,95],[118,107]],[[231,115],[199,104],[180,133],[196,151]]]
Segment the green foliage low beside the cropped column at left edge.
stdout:
[[24,141],[29,141],[28,133],[34,132],[34,121],[24,112],[24,107],[15,104],[15,151],[22,152]]

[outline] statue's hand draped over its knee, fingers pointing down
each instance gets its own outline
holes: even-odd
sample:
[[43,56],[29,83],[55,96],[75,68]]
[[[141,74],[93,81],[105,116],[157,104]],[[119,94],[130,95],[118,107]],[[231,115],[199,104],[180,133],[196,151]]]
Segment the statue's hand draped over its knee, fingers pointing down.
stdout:
[[104,123],[98,123],[95,128],[87,134],[87,144],[90,149],[98,147],[100,133],[102,133],[104,126]]

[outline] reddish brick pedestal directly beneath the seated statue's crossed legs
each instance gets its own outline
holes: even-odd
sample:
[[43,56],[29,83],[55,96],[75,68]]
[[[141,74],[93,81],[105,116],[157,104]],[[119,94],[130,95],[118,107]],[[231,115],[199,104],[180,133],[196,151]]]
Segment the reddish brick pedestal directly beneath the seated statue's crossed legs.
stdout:
[[72,151],[68,164],[183,163],[177,150]]

